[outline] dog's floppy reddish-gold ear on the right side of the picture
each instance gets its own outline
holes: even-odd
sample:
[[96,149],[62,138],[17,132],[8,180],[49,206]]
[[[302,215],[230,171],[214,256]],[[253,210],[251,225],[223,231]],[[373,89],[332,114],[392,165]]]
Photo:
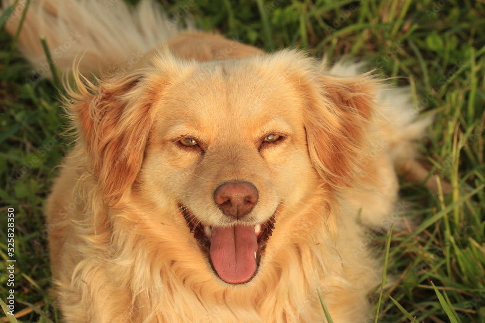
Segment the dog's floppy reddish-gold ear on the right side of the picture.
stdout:
[[362,169],[377,82],[320,74],[307,86],[304,123],[313,166],[330,185],[349,186]]

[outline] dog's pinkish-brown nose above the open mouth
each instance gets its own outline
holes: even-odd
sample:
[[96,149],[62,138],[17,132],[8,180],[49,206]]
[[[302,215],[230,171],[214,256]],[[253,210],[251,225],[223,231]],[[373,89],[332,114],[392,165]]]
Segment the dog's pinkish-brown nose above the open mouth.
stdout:
[[214,201],[225,215],[239,219],[253,210],[258,190],[249,182],[226,182],[216,188]]

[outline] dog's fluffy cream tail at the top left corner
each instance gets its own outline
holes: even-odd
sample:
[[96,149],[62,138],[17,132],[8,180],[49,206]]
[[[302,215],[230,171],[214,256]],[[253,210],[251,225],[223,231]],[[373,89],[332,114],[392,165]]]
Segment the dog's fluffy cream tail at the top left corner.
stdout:
[[[14,0],[3,0],[3,10]],[[15,35],[25,12],[18,47],[37,74],[49,76],[41,43],[45,37],[51,62],[61,71],[79,62],[81,73],[107,70],[115,63],[136,62],[177,33],[178,19],[168,19],[154,1],[130,10],[123,0],[19,0],[6,22]],[[42,76],[42,75],[41,75]]]

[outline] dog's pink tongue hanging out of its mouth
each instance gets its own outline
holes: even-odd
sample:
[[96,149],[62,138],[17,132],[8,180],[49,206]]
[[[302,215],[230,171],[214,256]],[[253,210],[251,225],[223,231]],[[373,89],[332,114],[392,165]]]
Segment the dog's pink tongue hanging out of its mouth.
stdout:
[[258,250],[252,226],[212,227],[210,260],[219,277],[230,284],[245,283],[256,272]]

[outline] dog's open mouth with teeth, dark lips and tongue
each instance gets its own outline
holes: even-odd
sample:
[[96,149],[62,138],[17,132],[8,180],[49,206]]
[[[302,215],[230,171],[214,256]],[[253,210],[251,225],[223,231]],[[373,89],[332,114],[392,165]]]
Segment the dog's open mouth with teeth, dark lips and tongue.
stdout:
[[262,224],[211,227],[201,223],[187,207],[179,208],[217,277],[228,284],[244,284],[256,276],[261,254],[275,229],[275,214]]

